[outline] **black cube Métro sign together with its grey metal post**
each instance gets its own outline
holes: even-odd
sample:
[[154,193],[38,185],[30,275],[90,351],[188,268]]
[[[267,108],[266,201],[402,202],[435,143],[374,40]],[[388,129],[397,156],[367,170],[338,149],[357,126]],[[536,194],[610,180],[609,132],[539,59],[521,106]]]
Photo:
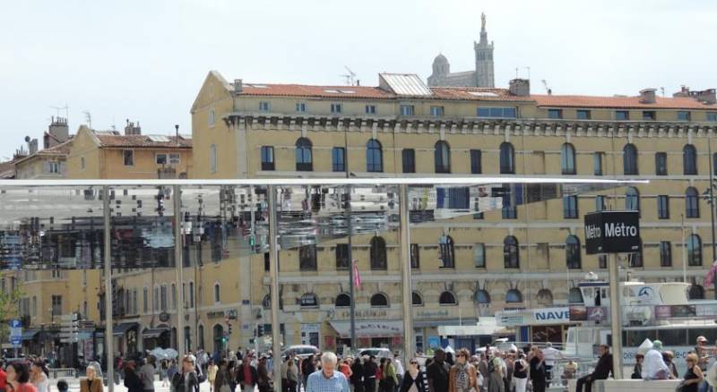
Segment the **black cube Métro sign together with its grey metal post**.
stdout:
[[640,215],[637,211],[602,211],[585,215],[585,251],[608,254],[612,373],[622,379],[622,308],[620,307],[618,253],[640,251]]

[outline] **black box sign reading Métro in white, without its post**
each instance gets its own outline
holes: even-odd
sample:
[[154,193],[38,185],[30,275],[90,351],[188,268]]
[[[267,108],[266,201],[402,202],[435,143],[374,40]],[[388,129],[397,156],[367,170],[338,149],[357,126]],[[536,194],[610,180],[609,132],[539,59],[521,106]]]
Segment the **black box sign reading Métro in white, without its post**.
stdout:
[[633,253],[640,251],[640,213],[601,211],[585,215],[585,251]]

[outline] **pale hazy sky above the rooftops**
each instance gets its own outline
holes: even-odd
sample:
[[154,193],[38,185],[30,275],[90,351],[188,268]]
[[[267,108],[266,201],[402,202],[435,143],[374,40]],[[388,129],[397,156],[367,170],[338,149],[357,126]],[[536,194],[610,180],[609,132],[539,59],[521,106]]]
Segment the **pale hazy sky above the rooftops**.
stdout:
[[33,0],[0,13],[0,158],[50,117],[143,133],[191,132],[190,107],[210,70],[228,81],[362,85],[378,72],[427,78],[443,53],[470,71],[480,13],[495,43],[497,87],[669,96],[717,87],[717,2],[692,0]]

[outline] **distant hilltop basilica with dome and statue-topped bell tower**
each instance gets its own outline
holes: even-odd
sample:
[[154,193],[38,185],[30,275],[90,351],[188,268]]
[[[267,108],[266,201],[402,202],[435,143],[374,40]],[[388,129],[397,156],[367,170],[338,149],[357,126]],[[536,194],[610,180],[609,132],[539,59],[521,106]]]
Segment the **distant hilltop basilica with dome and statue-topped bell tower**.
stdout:
[[451,64],[443,54],[433,60],[433,72],[428,76],[430,87],[495,87],[493,72],[493,41],[488,42],[486,14],[480,15],[480,40],[473,42],[475,71],[451,72]]

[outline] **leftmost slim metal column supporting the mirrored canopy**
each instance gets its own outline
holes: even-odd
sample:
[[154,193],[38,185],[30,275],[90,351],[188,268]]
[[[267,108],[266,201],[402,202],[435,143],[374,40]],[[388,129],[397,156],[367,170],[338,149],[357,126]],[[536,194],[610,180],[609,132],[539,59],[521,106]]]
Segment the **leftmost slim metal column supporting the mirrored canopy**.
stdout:
[[105,356],[107,357],[107,387],[109,392],[115,390],[115,334],[112,328],[112,237],[109,233],[109,186],[102,186],[102,213],[104,220],[105,244]]

